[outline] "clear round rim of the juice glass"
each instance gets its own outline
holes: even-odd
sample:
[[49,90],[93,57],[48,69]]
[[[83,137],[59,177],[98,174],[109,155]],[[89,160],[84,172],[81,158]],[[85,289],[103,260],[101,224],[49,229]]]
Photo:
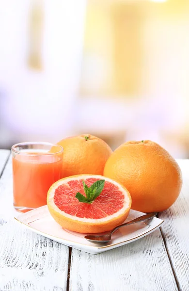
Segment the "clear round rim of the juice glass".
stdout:
[[[35,154],[35,153],[26,153],[26,152],[20,152],[18,150],[15,149],[16,146],[24,146],[24,145],[46,145],[46,146],[59,146],[60,147],[60,151],[57,151],[55,153],[41,153],[41,154]],[[51,144],[48,142],[22,142],[22,143],[18,143],[15,144],[13,146],[11,146],[11,151],[13,151],[14,153],[18,154],[18,155],[30,155],[30,156],[52,156],[52,155],[57,155],[57,154],[61,154],[63,152],[63,147],[60,145],[56,145],[56,144]]]

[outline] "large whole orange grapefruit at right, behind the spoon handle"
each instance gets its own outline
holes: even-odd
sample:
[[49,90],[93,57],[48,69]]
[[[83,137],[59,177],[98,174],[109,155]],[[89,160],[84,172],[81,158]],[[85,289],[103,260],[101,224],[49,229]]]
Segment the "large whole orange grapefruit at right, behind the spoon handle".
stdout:
[[152,141],[130,141],[119,146],[106,162],[104,176],[122,183],[134,210],[163,211],[178,197],[181,170],[173,157]]

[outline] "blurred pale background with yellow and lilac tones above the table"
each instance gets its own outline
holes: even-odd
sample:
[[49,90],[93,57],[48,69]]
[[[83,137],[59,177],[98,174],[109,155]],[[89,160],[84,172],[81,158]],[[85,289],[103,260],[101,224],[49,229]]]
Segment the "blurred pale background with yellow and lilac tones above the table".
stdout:
[[0,148],[90,133],[189,158],[189,0],[0,1]]

